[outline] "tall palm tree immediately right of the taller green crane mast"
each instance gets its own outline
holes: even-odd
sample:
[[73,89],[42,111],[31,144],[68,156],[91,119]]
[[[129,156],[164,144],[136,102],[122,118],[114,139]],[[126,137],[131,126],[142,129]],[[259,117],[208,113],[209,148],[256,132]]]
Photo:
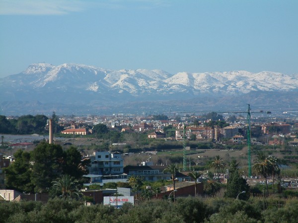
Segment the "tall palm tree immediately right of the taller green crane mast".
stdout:
[[258,153],[257,160],[255,161],[252,169],[255,174],[264,176],[267,195],[268,195],[269,190],[268,190],[267,176],[272,172],[272,164],[264,152]]

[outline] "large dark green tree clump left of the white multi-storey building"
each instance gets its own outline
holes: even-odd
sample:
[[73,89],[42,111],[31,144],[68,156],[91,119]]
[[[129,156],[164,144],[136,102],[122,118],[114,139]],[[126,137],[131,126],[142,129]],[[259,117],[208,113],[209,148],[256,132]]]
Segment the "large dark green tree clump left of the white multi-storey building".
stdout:
[[48,192],[62,174],[80,179],[88,173],[89,161],[81,161],[75,147],[63,151],[60,145],[40,143],[32,152],[19,150],[14,157],[4,168],[6,186],[22,192]]

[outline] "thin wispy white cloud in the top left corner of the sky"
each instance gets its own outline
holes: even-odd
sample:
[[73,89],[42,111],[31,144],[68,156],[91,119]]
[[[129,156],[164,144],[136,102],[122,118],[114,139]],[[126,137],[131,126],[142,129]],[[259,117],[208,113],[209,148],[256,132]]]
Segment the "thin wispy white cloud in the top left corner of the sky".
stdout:
[[87,7],[81,0],[0,0],[1,15],[60,15]]

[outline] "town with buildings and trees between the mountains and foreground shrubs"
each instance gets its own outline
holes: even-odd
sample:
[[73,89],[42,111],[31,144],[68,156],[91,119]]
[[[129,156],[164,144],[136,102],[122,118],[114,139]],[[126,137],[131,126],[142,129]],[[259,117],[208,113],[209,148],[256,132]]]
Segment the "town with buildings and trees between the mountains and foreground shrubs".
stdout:
[[[2,201],[298,196],[295,112],[0,115],[0,135]],[[75,187],[63,191],[66,181]]]

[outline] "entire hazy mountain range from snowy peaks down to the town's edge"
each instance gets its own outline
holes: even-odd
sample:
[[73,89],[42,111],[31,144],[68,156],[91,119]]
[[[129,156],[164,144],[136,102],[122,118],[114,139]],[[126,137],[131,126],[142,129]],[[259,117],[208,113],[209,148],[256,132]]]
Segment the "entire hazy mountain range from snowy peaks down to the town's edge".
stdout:
[[[298,107],[298,75],[263,71],[170,74],[162,70],[109,70],[35,63],[0,78],[7,114],[87,114]],[[271,109],[272,110],[272,109]]]

